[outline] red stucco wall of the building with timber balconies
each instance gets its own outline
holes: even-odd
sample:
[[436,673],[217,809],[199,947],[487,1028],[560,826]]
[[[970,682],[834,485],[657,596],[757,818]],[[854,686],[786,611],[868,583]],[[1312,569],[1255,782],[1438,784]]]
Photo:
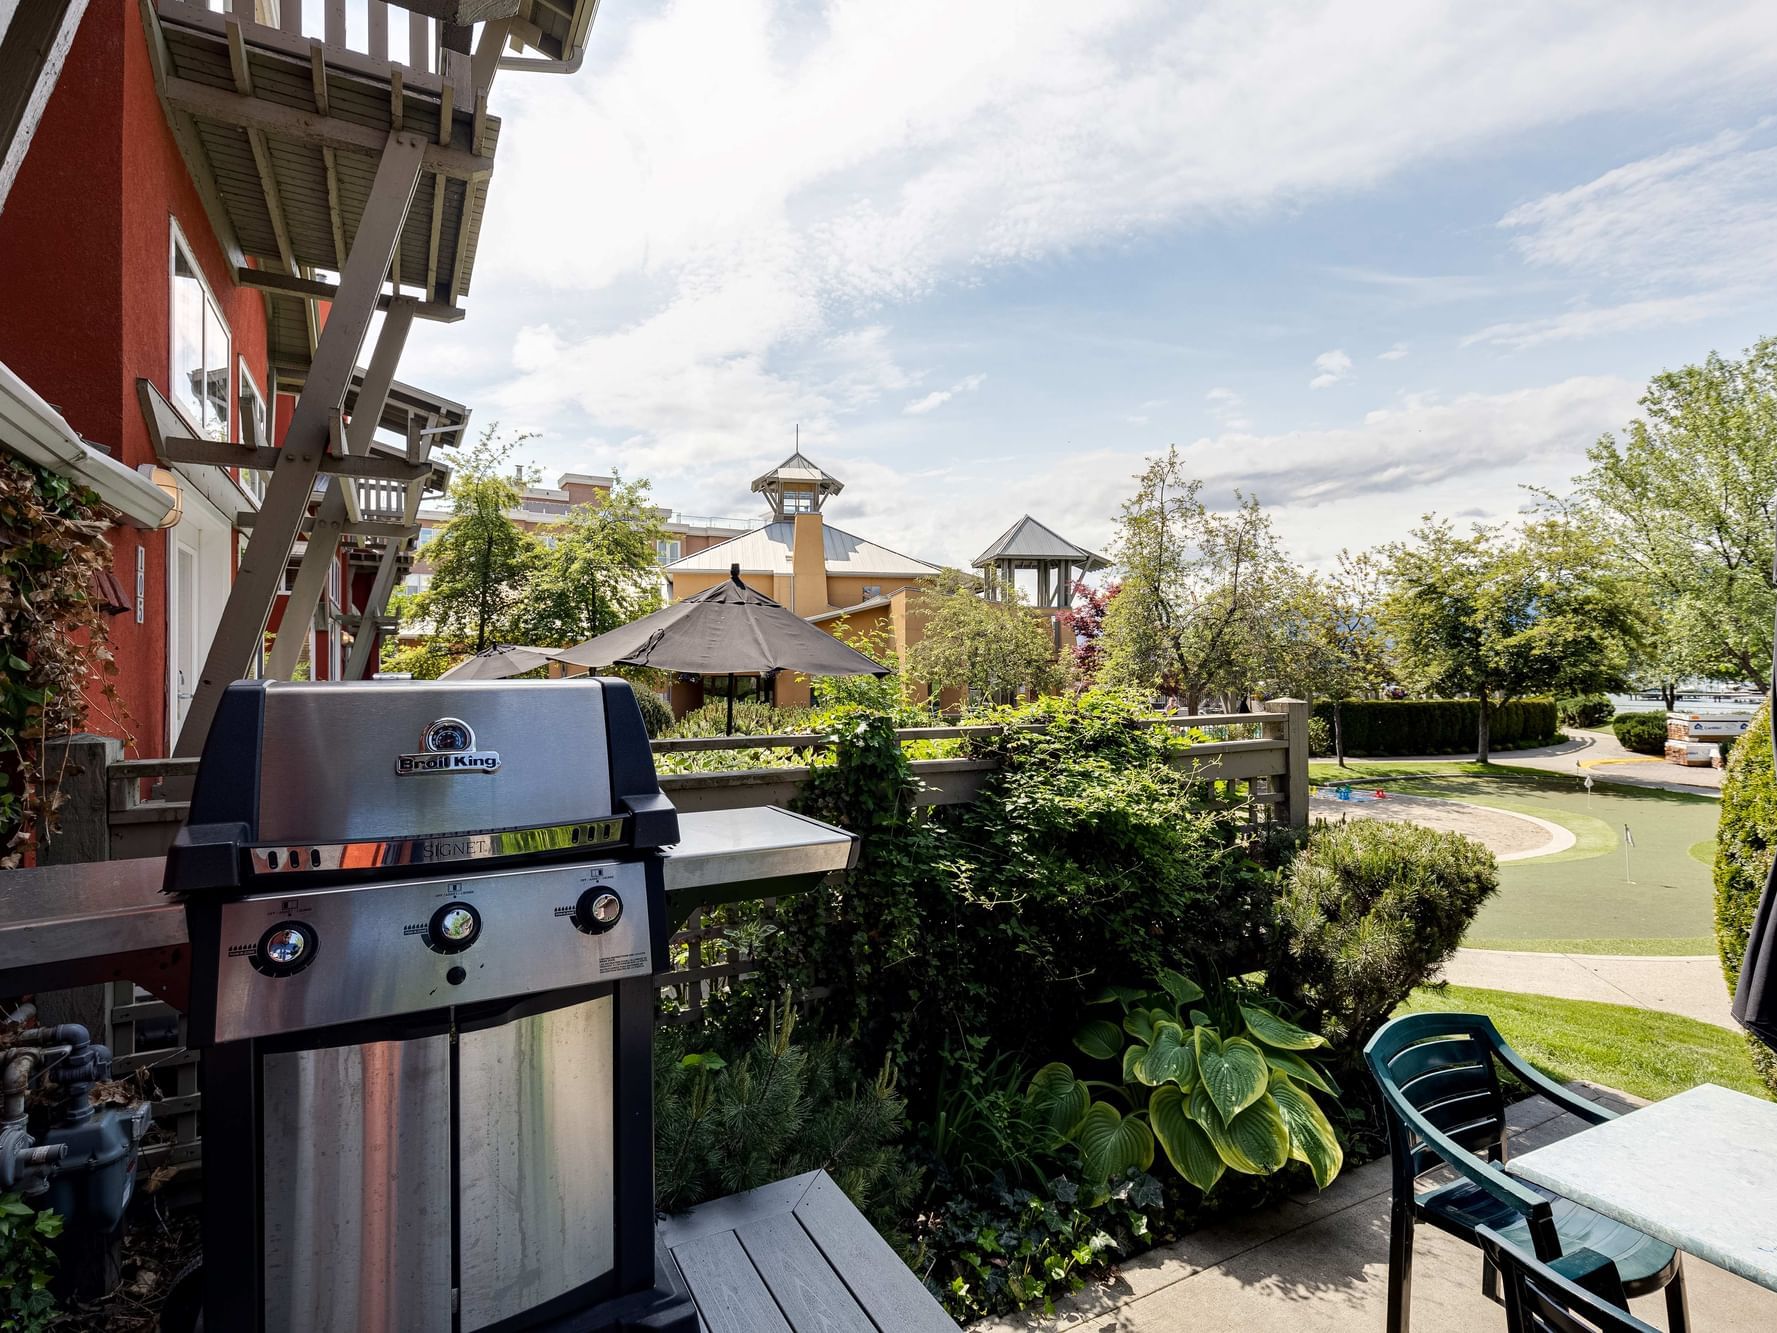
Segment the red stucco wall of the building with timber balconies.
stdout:
[[[169,219],[176,219],[231,334],[268,389],[263,299],[236,286],[155,92],[135,0],[92,0],[0,212],[0,361],[82,435],[130,467],[153,462],[135,380],[171,387]],[[231,411],[231,421],[235,419]],[[167,533],[116,528],[112,567],[133,594],[146,553],[142,624],[112,617],[126,718],[94,707],[89,730],[167,754]]]

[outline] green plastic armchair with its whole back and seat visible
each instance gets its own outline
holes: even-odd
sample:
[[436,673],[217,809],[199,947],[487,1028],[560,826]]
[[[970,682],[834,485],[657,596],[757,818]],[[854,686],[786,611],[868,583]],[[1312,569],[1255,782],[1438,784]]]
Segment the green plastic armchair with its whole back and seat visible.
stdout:
[[[1409,1013],[1363,1049],[1388,1114],[1395,1196],[1388,1228],[1388,1333],[1407,1333],[1413,1305],[1413,1228],[1425,1221],[1478,1246],[1491,1228],[1507,1244],[1553,1264],[1589,1249],[1610,1262],[1626,1296],[1665,1289],[1670,1333],[1686,1333],[1685,1273],[1672,1246],[1601,1217],[1573,1200],[1505,1175],[1507,1127],[1500,1065],[1532,1091],[1598,1125],[1615,1116],[1542,1077],[1482,1013]],[[1420,1189],[1448,1168],[1455,1180]],[[1498,1271],[1482,1260],[1482,1287],[1498,1299]]]

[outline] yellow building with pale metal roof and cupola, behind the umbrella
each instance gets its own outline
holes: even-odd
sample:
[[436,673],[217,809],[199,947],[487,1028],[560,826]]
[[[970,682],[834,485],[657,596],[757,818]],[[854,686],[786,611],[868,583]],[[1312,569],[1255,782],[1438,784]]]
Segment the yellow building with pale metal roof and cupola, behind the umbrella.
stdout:
[[[913,597],[936,581],[938,567],[826,523],[823,508],[841,491],[842,482],[798,450],[753,480],[753,492],[771,507],[764,526],[673,560],[665,569],[668,595],[682,601],[739,565],[748,587],[800,617],[830,629],[844,620],[848,635],[885,633],[904,666],[920,631]],[[775,698],[780,707],[803,706],[809,686],[778,679]],[[673,686],[675,711],[700,702],[702,686]]]

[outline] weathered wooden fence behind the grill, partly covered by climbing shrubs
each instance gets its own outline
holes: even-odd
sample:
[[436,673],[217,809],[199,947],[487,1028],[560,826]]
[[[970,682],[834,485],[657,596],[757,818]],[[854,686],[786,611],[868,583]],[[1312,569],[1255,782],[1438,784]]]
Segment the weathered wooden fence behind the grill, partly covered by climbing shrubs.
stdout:
[[[1308,823],[1308,704],[1276,700],[1271,713],[1223,713],[1151,718],[1148,725],[1208,734],[1256,730],[1256,736],[1198,741],[1180,752],[1182,778],[1203,784],[1210,800],[1244,807],[1255,823]],[[1029,723],[1034,725],[1034,723]],[[1004,727],[956,725],[912,727],[896,732],[904,745],[922,741],[992,739]],[[185,823],[188,802],[160,794],[188,787],[195,759],[121,759],[117,741],[78,736],[64,743],[66,762],[80,770],[64,784],[69,802],[62,809],[59,855],[52,860],[121,860],[158,857]],[[654,754],[707,754],[768,750],[794,759],[812,759],[830,750],[821,734],[785,736],[698,736],[654,741]],[[922,805],[972,802],[997,768],[993,759],[915,759]],[[684,812],[732,810],[787,805],[809,780],[807,762],[777,768],[743,768],[693,773],[663,773],[661,787]],[[98,780],[103,775],[103,780]],[[672,970],[663,974],[661,1022],[700,1024],[709,1001],[753,970],[753,949],[773,930],[771,901],[743,910],[697,908],[670,944]],[[736,921],[745,926],[736,930]],[[117,1056],[117,1072],[147,1070],[158,1100],[156,1134],[144,1146],[147,1169],[171,1168],[185,1175],[197,1166],[197,1058],[183,1045],[183,1017],[130,983],[103,990],[103,1031]],[[92,1024],[98,1026],[98,1024]]]

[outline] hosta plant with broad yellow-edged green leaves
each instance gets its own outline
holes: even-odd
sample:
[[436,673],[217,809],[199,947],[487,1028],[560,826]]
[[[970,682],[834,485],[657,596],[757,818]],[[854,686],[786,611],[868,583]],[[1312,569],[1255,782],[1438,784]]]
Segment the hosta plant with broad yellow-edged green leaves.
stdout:
[[1338,1091],[1319,1066],[1326,1038],[1242,983],[1212,997],[1180,972],[1162,970],[1159,983],[1111,986],[1095,1001],[1104,1017],[1073,1038],[1114,1077],[1080,1079],[1061,1061],[1032,1075],[1032,1120],[1050,1146],[1073,1145],[1091,1182],[1146,1171],[1159,1145],[1203,1193],[1224,1171],[1271,1175],[1292,1159],[1326,1187],[1345,1161],[1313,1097]]

